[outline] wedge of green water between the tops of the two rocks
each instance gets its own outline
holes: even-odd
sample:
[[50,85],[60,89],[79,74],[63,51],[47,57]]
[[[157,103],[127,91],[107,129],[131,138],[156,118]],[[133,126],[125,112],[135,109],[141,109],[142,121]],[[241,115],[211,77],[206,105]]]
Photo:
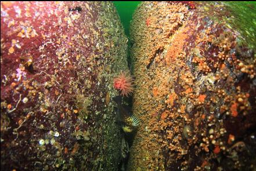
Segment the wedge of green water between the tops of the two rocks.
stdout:
[[132,14],[141,1],[113,1],[120,16],[122,26],[124,26],[125,35],[129,38],[129,27],[132,20]]

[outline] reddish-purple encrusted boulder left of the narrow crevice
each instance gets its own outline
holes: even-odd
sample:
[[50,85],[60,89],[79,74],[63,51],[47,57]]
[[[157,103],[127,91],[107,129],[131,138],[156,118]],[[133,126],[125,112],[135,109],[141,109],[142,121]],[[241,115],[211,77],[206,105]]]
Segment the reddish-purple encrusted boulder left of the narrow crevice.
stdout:
[[111,2],[1,2],[1,170],[118,168],[126,42]]

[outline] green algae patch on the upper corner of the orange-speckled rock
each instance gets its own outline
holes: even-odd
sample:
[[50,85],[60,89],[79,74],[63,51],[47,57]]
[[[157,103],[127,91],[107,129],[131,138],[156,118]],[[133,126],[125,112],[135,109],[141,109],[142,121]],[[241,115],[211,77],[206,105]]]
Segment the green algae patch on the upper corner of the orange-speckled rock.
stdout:
[[201,6],[205,15],[238,31],[237,43],[250,49],[256,48],[256,3],[255,2],[209,2]]

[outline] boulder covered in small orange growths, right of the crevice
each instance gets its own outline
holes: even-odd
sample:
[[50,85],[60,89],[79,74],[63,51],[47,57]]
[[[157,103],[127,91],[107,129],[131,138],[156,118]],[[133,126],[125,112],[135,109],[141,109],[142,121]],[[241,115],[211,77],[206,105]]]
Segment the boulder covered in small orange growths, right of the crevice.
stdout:
[[142,2],[136,10],[140,126],[128,170],[255,170],[255,6],[234,6]]

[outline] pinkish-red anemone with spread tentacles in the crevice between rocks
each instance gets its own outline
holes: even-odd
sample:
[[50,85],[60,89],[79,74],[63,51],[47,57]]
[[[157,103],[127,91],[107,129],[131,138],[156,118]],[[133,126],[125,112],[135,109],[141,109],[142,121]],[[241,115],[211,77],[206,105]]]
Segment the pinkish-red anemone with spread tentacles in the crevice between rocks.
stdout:
[[128,72],[121,72],[117,78],[114,78],[114,88],[120,90],[122,96],[128,96],[134,90],[133,82],[134,78]]

